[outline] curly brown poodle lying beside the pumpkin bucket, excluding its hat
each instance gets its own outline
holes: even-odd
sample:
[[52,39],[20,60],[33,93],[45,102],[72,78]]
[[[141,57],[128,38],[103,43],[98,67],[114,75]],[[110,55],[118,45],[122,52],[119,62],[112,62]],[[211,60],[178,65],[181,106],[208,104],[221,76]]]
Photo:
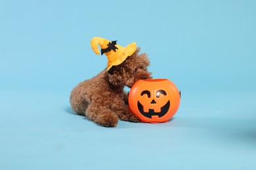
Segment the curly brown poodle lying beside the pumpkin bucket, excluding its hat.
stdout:
[[114,127],[119,119],[140,122],[128,106],[124,86],[131,88],[137,80],[152,78],[147,71],[148,57],[138,54],[140,48],[123,63],[113,66],[108,73],[106,69],[95,77],[78,84],[70,95],[72,109],[87,116],[96,124]]

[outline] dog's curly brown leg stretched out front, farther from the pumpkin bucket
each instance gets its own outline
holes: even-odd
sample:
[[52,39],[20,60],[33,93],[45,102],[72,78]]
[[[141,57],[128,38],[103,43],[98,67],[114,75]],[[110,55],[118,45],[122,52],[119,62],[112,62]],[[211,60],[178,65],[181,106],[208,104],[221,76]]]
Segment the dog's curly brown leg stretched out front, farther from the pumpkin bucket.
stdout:
[[106,127],[115,127],[119,119],[112,110],[99,105],[93,105],[93,103],[88,106],[85,116],[96,124]]

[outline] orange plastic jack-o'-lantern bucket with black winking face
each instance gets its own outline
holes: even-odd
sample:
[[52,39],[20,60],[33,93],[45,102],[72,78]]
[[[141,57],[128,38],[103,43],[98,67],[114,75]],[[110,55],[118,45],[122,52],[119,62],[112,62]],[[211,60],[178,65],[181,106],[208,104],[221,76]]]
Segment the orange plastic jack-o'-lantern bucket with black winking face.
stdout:
[[168,79],[137,81],[129,92],[129,107],[141,122],[168,122],[180,105],[180,92]]

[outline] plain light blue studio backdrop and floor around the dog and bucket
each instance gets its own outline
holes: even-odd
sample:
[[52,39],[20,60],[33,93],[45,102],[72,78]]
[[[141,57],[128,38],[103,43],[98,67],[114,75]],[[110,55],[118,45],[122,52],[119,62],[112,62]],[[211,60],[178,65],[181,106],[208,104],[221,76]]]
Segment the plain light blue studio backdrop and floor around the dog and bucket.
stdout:
[[[1,1],[0,169],[256,169],[255,1]],[[182,92],[170,122],[100,127],[69,105],[136,41]]]

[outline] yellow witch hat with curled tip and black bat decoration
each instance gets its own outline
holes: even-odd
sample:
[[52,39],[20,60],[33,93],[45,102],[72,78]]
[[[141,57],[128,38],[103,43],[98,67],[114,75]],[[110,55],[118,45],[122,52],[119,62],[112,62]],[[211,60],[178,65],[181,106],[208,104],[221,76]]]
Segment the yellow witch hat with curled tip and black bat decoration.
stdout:
[[125,61],[125,59],[131,56],[136,50],[136,42],[132,42],[126,47],[119,46],[116,41],[108,41],[101,37],[94,37],[91,39],[91,48],[98,55],[98,44],[101,48],[101,55],[105,54],[108,58],[108,65],[106,71],[109,71],[112,66],[119,65]]

